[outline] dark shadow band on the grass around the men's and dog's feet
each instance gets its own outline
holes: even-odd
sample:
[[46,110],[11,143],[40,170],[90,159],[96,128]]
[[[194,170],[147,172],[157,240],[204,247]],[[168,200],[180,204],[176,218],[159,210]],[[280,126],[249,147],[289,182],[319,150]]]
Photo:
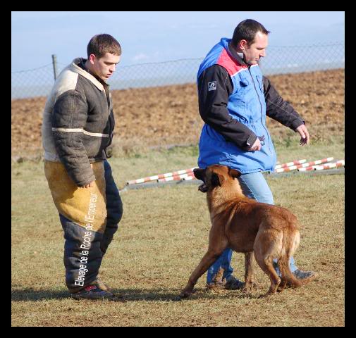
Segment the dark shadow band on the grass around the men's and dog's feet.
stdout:
[[[111,301],[180,301],[178,295],[181,289],[112,289],[113,299]],[[223,299],[233,296],[239,299],[257,298],[257,293],[252,295],[244,294],[238,290],[220,290],[219,292],[197,289],[188,299],[181,301],[197,301],[198,299]],[[35,290],[30,287],[22,290],[11,291],[12,301],[44,301],[50,299],[69,299],[68,291]],[[91,300],[90,300],[91,301]]]

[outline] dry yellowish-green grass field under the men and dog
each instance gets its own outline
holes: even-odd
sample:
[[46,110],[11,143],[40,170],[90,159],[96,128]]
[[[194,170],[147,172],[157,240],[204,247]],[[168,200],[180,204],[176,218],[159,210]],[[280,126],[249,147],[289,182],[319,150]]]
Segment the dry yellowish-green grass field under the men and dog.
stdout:
[[[343,139],[276,144],[278,161],[344,158]],[[192,168],[197,147],[135,152],[111,158],[118,187],[127,180]],[[317,280],[269,299],[258,299],[269,279],[256,269],[260,288],[197,292],[173,301],[207,249],[209,215],[197,185],[123,192],[124,213],[99,276],[116,301],[75,301],[64,284],[63,231],[51,200],[42,162],[12,168],[12,326],[343,326],[344,175],[267,178],[275,203],[300,219],[295,261],[315,270]],[[233,253],[243,278],[243,254]]]

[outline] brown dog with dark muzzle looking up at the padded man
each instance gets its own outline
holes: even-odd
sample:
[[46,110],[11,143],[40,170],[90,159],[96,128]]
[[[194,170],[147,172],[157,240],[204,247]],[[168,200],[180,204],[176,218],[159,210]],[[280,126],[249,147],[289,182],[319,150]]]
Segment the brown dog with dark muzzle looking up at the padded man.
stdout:
[[[253,280],[252,251],[264,273],[271,280],[271,287],[264,295],[282,291],[288,283],[300,287],[301,282],[290,272],[289,258],[297,249],[300,234],[297,218],[286,208],[264,204],[243,195],[237,179],[238,170],[223,165],[211,165],[207,169],[195,169],[194,175],[202,180],[201,192],[207,192],[211,229],[209,248],[202,261],[190,275],[180,298],[192,294],[199,277],[230,247],[245,253],[245,292],[250,292]],[[278,259],[281,278],[272,265]]]

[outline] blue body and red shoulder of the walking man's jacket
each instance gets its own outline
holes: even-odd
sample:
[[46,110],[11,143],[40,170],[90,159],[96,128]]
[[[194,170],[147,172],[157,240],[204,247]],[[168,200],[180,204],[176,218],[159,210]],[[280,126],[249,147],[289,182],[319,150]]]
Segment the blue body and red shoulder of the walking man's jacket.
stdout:
[[[266,100],[261,70],[258,65],[248,66],[239,62],[231,54],[228,48],[229,42],[231,39],[223,38],[209,51],[200,65],[197,80],[199,83],[200,75],[212,65],[219,65],[227,71],[230,78],[226,81],[232,82],[232,92],[226,97],[228,102],[226,109],[231,116],[231,121],[227,124],[236,124],[238,121],[238,125],[247,130],[250,137],[247,139],[247,144],[238,145],[231,138],[223,136],[216,128],[205,123],[200,135],[198,165],[200,168],[212,164],[228,165],[243,174],[274,170],[276,153],[266,127]],[[208,82],[207,87],[204,87],[207,91],[205,94],[222,90],[216,86],[221,86],[223,83],[225,82],[221,79]],[[212,114],[214,115],[214,111]],[[247,151],[257,137],[262,141],[262,149]]]

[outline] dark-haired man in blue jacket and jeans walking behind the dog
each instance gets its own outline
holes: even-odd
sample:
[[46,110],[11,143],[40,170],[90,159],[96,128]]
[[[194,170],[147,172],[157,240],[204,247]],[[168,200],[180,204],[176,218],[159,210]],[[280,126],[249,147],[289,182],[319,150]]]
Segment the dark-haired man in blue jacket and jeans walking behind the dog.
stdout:
[[[263,171],[274,170],[276,153],[266,127],[266,115],[300,134],[309,143],[305,121],[283,101],[259,69],[266,55],[269,31],[255,20],[238,24],[232,39],[223,38],[202,61],[197,74],[199,111],[204,126],[200,135],[198,165],[221,164],[239,170],[246,196],[274,204]],[[240,289],[233,275],[231,249],[223,251],[207,272],[207,288]],[[276,262],[275,262],[276,263]],[[278,266],[275,265],[277,273]],[[302,271],[290,258],[290,270],[299,279],[315,273]]]

